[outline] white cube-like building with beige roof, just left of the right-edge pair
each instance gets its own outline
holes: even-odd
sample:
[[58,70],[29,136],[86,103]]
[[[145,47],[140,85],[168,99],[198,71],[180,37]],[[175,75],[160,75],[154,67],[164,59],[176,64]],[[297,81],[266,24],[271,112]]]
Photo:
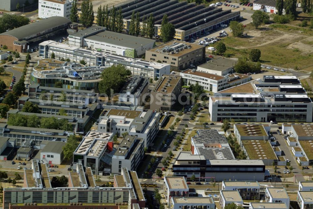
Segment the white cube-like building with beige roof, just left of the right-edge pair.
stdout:
[[278,187],[266,187],[265,190],[265,202],[284,202],[289,208],[290,198],[285,188]]

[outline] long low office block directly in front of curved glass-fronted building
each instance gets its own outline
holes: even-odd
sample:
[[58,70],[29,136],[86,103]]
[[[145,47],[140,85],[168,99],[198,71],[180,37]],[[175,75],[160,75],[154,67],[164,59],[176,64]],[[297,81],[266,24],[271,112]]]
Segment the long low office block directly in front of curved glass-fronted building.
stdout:
[[[64,96],[62,100],[70,103],[81,103],[81,104],[93,104],[97,102],[98,94],[93,90],[80,90],[80,89],[68,89],[68,88],[54,88],[40,86],[39,84],[31,84],[26,89],[28,97],[30,99],[42,99],[49,98],[53,101],[59,101],[61,96]],[[62,94],[62,95],[61,95]]]

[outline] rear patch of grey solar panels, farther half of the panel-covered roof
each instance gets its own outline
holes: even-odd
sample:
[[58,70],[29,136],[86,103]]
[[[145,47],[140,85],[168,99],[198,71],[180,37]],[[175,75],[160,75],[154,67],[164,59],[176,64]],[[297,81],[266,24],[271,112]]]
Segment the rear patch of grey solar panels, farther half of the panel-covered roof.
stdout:
[[199,129],[199,135],[193,138],[195,143],[227,143],[226,138],[216,129]]

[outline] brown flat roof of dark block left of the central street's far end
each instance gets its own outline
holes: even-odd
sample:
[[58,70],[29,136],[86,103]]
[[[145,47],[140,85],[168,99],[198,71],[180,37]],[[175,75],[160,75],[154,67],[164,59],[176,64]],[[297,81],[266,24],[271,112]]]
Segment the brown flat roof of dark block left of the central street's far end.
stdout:
[[162,78],[159,79],[159,82],[157,82],[157,86],[153,91],[164,94],[172,93],[181,78],[181,76],[176,75],[162,75]]

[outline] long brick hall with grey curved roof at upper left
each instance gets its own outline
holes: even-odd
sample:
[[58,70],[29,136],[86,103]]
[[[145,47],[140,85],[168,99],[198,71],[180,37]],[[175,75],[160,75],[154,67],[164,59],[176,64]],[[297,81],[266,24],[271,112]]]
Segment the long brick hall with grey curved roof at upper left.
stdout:
[[29,44],[66,34],[71,21],[64,17],[50,17],[0,34],[0,46],[10,51],[26,52]]

